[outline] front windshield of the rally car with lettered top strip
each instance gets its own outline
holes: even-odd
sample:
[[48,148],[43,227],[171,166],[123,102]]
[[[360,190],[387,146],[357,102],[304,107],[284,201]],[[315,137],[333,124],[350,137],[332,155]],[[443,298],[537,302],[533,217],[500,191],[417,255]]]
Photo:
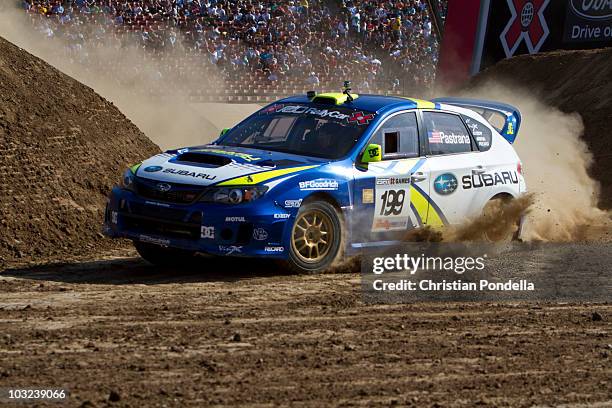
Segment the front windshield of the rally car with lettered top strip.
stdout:
[[217,144],[339,159],[373,119],[370,112],[343,107],[274,104],[230,130]]

